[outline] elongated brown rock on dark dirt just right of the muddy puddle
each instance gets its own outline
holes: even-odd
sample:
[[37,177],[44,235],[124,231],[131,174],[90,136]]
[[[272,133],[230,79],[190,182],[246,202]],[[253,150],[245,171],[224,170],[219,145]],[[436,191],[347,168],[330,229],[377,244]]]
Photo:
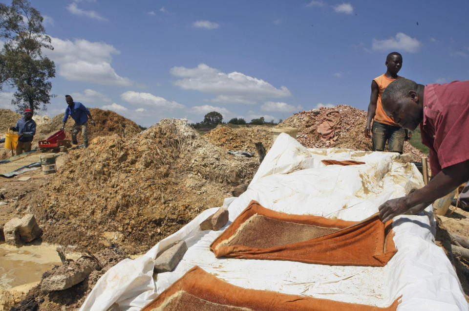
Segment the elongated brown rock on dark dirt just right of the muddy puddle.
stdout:
[[53,273],[41,281],[41,291],[43,293],[69,289],[85,280],[91,272],[99,268],[99,265],[93,260],[83,260],[78,263],[72,262],[68,267],[64,267],[65,265],[59,267],[56,271],[52,270]]

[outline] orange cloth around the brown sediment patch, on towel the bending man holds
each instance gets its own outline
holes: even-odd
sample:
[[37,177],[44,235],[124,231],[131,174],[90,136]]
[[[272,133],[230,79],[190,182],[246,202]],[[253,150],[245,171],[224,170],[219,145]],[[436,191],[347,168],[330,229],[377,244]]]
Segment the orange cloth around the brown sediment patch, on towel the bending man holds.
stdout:
[[[284,222],[340,230],[303,242],[267,248],[231,245],[227,242],[233,239],[238,229],[242,230],[243,226],[249,225],[246,221],[256,214]],[[361,222],[332,220],[311,215],[290,215],[264,208],[252,200],[235,221],[213,241],[210,249],[216,257],[289,260],[332,266],[383,267],[397,252],[392,240],[394,232],[391,230],[391,222],[386,224],[381,222],[378,213]],[[263,228],[258,230],[259,234],[263,233]],[[275,235],[272,232],[266,233],[265,239],[272,239]]]

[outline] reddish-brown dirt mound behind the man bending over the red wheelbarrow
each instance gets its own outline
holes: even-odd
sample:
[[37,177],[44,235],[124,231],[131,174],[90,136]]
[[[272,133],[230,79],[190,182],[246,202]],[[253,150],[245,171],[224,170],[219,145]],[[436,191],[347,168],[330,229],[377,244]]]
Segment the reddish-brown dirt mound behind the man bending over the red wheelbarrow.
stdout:
[[[135,137],[138,133],[141,132],[139,126],[135,122],[123,117],[122,115],[114,111],[101,110],[98,108],[91,108],[89,111],[91,112],[93,120],[96,122],[96,126],[93,126],[88,123],[88,141],[91,141],[94,137],[97,136],[122,136],[122,125],[125,125],[125,137]],[[39,125],[36,131],[36,136],[34,137],[33,145],[39,140],[46,139],[53,133],[59,131],[62,127],[62,120],[64,119],[64,114],[65,113],[56,115],[48,122]],[[67,123],[65,124],[66,139],[71,139],[70,132],[74,124],[75,121],[73,121],[73,119],[69,117]],[[81,139],[81,133],[79,133],[77,136],[78,143],[81,144],[83,142],[83,140]]]

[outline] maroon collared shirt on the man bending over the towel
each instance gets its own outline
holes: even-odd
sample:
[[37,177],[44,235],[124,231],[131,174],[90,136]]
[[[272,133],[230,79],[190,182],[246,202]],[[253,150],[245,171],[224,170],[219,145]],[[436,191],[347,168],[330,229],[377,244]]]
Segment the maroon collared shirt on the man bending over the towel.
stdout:
[[469,81],[429,84],[424,90],[422,143],[431,175],[469,159]]

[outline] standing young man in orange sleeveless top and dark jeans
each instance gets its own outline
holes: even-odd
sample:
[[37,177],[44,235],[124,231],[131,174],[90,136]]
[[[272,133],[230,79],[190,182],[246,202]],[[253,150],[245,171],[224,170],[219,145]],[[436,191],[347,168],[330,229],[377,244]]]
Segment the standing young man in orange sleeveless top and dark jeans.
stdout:
[[384,151],[386,141],[389,144],[390,152],[398,152],[402,154],[404,141],[410,139],[410,132],[403,129],[399,124],[395,123],[386,115],[381,103],[381,96],[384,89],[396,79],[402,77],[397,73],[402,67],[402,55],[398,52],[389,53],[386,57],[387,71],[371,82],[370,104],[368,105],[368,115],[366,118],[365,137],[370,138],[371,120],[373,127],[371,133],[373,135],[373,151]]

